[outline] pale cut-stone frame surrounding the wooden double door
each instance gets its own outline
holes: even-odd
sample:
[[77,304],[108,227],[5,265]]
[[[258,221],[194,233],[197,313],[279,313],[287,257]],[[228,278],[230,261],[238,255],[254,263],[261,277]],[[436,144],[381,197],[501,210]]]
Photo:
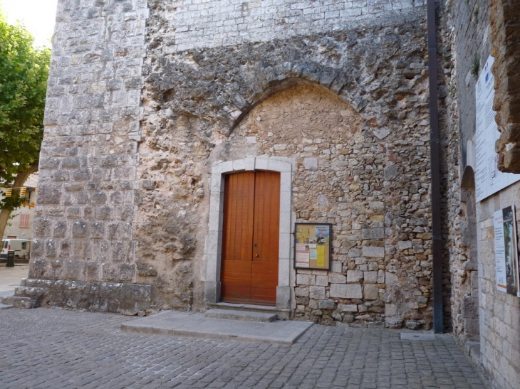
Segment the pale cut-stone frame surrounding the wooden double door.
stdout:
[[220,302],[222,260],[222,219],[224,214],[224,175],[239,171],[277,171],[280,173],[279,269],[276,308],[291,309],[291,186],[293,163],[279,156],[246,156],[234,161],[218,161],[212,166],[209,187],[209,223],[204,257],[206,279],[204,302]]

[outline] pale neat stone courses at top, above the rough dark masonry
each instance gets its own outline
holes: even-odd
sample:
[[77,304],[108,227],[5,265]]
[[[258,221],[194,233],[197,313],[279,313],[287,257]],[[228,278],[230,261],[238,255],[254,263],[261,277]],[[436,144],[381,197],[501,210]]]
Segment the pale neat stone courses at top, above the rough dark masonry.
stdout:
[[[155,8],[159,3],[150,5]],[[174,52],[341,31],[345,21],[399,16],[425,4],[424,0],[184,0],[167,6],[164,17],[170,31],[175,30],[175,41],[169,43]]]

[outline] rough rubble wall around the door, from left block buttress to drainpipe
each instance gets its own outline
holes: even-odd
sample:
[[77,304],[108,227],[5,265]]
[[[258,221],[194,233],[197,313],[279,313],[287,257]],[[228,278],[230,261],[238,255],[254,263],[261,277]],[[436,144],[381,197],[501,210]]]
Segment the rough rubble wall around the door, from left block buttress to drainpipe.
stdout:
[[[135,238],[138,282],[157,287],[162,307],[204,309],[212,164],[269,154],[296,162],[294,220],[335,225],[333,270],[294,275],[296,316],[430,327],[423,11],[305,35],[288,24],[226,46],[207,30],[176,51],[185,31],[165,29],[182,7],[150,3]],[[302,127],[309,112],[314,129]]]

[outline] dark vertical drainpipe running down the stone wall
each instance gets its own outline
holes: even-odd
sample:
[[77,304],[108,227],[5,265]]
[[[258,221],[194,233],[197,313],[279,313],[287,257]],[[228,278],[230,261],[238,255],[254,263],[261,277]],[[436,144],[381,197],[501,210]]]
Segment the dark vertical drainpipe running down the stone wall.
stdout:
[[440,223],[439,112],[435,0],[427,0],[428,78],[430,81],[430,160],[432,174],[433,331],[444,332],[442,319],[442,236]]

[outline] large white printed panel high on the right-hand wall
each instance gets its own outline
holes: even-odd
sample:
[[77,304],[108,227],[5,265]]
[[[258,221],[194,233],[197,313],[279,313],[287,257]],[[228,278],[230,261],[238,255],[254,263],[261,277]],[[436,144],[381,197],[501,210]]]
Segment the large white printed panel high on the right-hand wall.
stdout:
[[495,142],[499,139],[500,133],[494,120],[494,77],[491,73],[493,63],[494,58],[489,55],[475,86],[477,100],[475,197],[477,202],[520,180],[520,174],[502,173],[496,169],[499,154],[495,152]]

